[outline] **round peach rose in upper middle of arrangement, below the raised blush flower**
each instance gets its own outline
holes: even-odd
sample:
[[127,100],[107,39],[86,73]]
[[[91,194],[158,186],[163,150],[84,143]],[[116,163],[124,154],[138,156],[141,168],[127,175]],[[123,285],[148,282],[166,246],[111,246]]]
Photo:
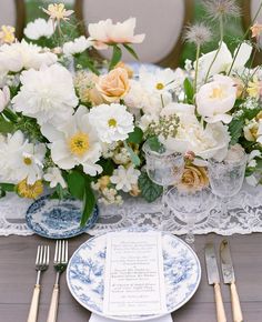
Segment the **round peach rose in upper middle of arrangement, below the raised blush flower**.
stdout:
[[125,69],[115,68],[108,74],[101,76],[95,87],[105,101],[115,102],[130,89],[128,72]]

